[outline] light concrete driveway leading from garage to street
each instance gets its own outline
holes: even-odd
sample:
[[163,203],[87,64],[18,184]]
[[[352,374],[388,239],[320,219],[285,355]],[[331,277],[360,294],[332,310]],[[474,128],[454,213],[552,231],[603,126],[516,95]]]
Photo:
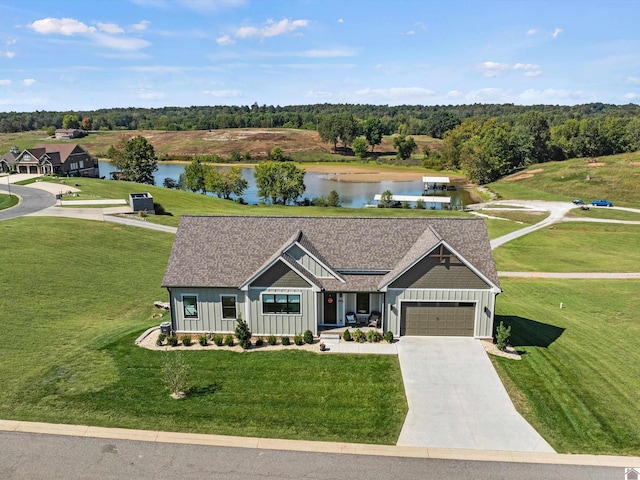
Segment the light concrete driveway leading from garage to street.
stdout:
[[402,337],[397,349],[409,403],[399,446],[554,451],[516,411],[479,340]]

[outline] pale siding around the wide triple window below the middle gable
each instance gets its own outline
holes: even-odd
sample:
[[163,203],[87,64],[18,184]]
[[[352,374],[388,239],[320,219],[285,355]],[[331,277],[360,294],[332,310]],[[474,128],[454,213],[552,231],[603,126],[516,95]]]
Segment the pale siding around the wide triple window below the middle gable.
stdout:
[[[262,294],[300,295],[300,315],[262,313]],[[318,333],[316,322],[316,297],[310,288],[257,288],[247,292],[249,300],[249,327],[254,335],[295,335],[311,330]]]

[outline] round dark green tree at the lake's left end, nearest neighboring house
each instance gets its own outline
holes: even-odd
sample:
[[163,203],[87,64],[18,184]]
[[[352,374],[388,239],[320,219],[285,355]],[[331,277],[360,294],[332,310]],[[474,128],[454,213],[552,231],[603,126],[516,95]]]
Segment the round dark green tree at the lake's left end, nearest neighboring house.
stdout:
[[129,140],[122,138],[111,153],[113,164],[127,180],[154,185],[153,172],[158,170],[158,157],[153,145],[142,135]]

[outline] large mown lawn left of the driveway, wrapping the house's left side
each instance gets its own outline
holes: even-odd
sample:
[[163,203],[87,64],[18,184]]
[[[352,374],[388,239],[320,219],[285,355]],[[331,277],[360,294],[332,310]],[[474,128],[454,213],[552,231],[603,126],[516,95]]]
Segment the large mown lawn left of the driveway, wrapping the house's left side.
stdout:
[[[152,318],[173,236],[60,218],[0,223],[6,419],[394,444],[407,411],[395,356],[185,352],[192,395],[134,345]],[[25,241],[25,239],[31,239]],[[44,253],[43,253],[44,252]],[[43,281],[43,279],[47,279]],[[11,340],[9,340],[11,339]]]

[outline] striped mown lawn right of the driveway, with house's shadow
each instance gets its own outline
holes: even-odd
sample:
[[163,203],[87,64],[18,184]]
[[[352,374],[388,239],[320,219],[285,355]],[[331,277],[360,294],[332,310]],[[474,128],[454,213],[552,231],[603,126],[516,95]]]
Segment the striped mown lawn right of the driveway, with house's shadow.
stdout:
[[525,353],[491,358],[518,410],[559,452],[640,454],[640,282],[501,283],[496,320]]

